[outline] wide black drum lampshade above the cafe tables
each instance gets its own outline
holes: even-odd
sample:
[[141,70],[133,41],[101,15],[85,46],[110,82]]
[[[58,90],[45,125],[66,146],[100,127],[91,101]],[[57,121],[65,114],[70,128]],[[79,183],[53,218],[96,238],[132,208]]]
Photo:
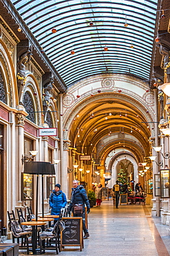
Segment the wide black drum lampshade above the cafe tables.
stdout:
[[50,162],[25,162],[24,171],[25,174],[55,174],[54,165]]

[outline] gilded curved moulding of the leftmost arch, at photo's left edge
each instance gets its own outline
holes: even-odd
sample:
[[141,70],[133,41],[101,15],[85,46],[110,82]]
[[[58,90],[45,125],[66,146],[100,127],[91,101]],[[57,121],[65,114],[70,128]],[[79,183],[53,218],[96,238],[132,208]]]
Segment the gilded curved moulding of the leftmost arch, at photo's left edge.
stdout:
[[[4,52],[4,49],[3,49],[1,44],[0,44],[0,51],[2,51],[4,55],[6,55],[6,52]],[[8,82],[8,91],[10,92],[10,107],[14,107],[13,92],[12,92],[12,82],[11,82],[11,77],[10,77],[10,70],[9,70],[8,63],[6,62],[7,59],[5,59],[3,54],[0,52],[0,60],[1,60],[2,64],[3,64],[3,68],[6,71],[6,74],[4,74],[4,75],[6,76],[6,79],[7,79],[7,82]],[[6,57],[7,57],[7,55],[6,55]]]

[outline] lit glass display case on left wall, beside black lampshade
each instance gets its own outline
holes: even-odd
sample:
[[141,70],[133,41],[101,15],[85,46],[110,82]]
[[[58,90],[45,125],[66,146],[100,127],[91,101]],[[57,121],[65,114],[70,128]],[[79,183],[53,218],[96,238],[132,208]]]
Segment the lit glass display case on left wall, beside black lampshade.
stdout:
[[33,175],[22,173],[22,200],[33,199]]

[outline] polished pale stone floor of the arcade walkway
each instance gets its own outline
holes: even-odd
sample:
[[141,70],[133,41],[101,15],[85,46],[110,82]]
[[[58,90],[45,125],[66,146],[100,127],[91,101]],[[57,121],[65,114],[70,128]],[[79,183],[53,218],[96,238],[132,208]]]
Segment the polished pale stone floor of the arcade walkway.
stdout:
[[[120,205],[103,201],[88,214],[89,239],[84,249],[70,248],[59,255],[169,256],[169,227],[160,218],[151,218],[147,205]],[[73,250],[74,249],[74,250]],[[44,255],[54,255],[47,251]],[[20,255],[23,255],[20,253]]]

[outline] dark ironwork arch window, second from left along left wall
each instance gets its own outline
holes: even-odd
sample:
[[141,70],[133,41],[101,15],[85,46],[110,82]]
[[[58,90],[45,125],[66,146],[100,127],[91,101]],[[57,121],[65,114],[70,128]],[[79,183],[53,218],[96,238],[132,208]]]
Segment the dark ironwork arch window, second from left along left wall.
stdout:
[[29,115],[26,118],[28,118],[30,121],[35,123],[34,104],[32,101],[32,97],[30,93],[28,93],[28,91],[26,91],[25,94],[23,95],[23,105],[25,107],[25,111],[29,113]]

